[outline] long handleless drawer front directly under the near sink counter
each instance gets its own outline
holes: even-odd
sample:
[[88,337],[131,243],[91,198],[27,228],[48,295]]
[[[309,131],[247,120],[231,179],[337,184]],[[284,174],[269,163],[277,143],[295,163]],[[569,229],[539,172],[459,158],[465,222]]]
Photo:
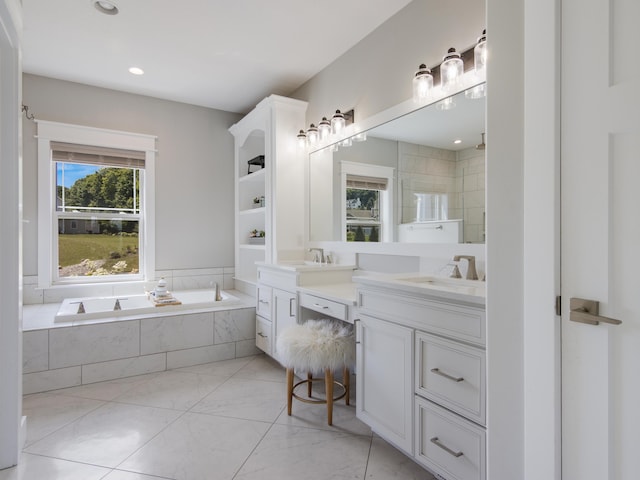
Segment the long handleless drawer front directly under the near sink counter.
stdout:
[[484,308],[366,288],[358,290],[358,310],[418,330],[428,330],[480,346],[485,344]]

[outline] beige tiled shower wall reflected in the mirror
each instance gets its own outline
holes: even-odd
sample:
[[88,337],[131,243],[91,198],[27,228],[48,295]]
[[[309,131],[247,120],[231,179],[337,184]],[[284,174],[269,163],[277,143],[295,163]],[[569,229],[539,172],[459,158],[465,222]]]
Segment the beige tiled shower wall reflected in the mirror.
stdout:
[[398,181],[402,223],[416,219],[414,193],[447,193],[449,219],[464,220],[464,241],[484,242],[485,154],[398,144]]

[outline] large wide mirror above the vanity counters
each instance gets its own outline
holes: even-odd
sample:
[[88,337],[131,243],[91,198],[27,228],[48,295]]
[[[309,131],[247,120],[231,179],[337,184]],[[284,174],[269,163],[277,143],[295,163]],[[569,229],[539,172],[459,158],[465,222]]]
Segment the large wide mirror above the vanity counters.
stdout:
[[478,87],[312,152],[309,239],[484,243]]

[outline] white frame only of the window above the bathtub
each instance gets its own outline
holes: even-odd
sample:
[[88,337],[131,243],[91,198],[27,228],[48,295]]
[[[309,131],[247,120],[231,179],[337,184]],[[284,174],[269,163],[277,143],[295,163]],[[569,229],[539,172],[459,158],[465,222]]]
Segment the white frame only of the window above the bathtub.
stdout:
[[[38,125],[38,286],[90,285],[150,281],[155,278],[155,154],[156,136],[37,120]],[[56,215],[56,168],[51,142],[144,152],[142,218],[139,225],[140,273],[97,277],[57,276],[57,252],[53,248],[58,234]]]

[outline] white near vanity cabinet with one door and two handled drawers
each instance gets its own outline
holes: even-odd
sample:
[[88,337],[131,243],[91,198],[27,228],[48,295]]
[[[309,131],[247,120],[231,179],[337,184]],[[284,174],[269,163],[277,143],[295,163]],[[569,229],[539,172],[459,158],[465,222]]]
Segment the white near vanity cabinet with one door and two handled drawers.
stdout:
[[484,299],[357,281],[358,418],[446,480],[484,480]]

